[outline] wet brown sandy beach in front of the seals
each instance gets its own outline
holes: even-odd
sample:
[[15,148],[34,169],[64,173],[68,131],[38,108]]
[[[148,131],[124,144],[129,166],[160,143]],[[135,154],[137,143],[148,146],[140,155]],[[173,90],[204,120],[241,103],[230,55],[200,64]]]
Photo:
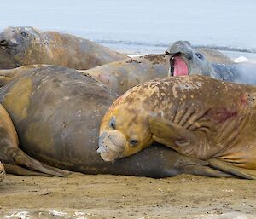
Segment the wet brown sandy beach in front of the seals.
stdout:
[[0,218],[256,218],[256,182],[8,175],[0,183]]

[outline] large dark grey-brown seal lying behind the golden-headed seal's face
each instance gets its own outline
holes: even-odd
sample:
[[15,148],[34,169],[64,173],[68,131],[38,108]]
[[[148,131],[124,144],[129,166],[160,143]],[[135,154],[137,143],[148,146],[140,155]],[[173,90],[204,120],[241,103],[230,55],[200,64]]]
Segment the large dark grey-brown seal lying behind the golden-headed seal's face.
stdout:
[[[235,176],[162,146],[148,147],[114,163],[104,162],[96,153],[98,130],[102,116],[116,98],[111,89],[90,76],[57,66],[34,68],[0,89],[0,100],[14,123],[20,149],[45,164],[88,174]],[[7,135],[3,133],[2,138]],[[7,154],[8,160],[13,154]],[[9,172],[9,165],[5,167]]]

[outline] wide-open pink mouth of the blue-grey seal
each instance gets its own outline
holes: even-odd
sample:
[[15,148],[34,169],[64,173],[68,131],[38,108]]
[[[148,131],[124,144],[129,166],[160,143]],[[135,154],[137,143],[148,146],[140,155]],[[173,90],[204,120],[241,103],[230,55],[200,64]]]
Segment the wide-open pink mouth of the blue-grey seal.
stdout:
[[174,55],[170,59],[170,76],[189,75],[187,63],[179,55]]

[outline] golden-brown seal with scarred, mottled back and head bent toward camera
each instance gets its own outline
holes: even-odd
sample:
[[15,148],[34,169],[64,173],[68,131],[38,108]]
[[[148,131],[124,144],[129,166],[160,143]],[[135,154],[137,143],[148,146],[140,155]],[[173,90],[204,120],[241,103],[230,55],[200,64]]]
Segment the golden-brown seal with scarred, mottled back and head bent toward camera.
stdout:
[[255,99],[256,88],[246,84],[198,75],[154,79],[113,102],[97,151],[113,161],[156,141],[224,171],[255,171]]

